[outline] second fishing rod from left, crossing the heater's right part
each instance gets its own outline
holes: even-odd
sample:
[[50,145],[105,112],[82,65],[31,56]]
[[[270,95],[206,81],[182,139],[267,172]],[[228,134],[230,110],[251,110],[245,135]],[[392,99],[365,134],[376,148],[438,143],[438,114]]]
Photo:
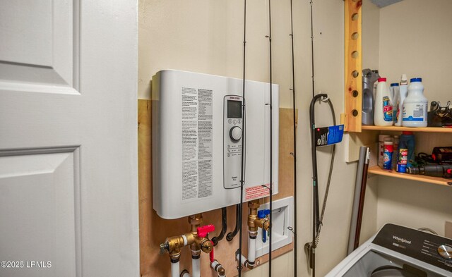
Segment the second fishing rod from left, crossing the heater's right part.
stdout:
[[271,277],[271,252],[272,252],[272,237],[273,237],[273,74],[272,74],[272,63],[271,63],[271,0],[268,0],[268,54],[269,54],[269,67],[270,67],[270,226],[269,237],[268,237],[268,277]]

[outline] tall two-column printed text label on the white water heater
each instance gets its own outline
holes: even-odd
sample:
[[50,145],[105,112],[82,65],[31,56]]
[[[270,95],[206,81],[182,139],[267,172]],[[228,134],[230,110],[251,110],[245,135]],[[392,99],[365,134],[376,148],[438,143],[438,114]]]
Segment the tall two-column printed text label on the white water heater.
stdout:
[[182,200],[212,195],[212,90],[182,87]]

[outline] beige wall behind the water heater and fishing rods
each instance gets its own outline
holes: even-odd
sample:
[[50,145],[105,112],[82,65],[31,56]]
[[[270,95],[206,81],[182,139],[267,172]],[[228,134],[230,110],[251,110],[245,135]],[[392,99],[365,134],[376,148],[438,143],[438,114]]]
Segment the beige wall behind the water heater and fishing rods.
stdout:
[[[246,78],[268,82],[268,1],[247,1]],[[273,82],[280,85],[280,105],[292,106],[290,1],[272,1]],[[298,264],[299,276],[309,276],[304,243],[311,240],[311,157],[309,101],[311,100],[311,26],[309,1],[294,1],[295,70],[298,129]],[[314,2],[316,92],[330,94],[336,117],[343,111],[343,1]],[[138,29],[138,96],[150,98],[150,78],[172,68],[242,78],[243,1],[140,0]],[[331,124],[321,104],[319,125]],[[320,194],[323,195],[329,149],[319,151]],[[325,275],[346,254],[356,164],[344,162],[338,146],[328,198],[317,274]],[[321,197],[323,199],[323,197]],[[331,249],[334,251],[332,252]],[[232,254],[232,253],[231,253]],[[292,252],[275,259],[274,273],[292,276]],[[246,277],[267,276],[266,265]]]

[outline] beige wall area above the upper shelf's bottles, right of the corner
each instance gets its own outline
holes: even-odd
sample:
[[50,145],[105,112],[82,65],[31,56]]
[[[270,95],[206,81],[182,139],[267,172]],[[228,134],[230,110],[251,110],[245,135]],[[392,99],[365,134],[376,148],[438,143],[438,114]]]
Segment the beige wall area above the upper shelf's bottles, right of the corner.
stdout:
[[452,1],[405,0],[381,8],[380,70],[391,82],[400,74],[422,77],[429,101],[452,100]]

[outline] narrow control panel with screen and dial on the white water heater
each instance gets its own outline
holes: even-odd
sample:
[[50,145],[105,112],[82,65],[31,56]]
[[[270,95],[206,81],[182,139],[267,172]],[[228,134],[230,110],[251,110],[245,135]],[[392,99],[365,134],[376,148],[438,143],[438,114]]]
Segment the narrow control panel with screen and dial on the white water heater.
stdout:
[[243,97],[227,95],[223,104],[223,187],[240,187],[243,145]]

